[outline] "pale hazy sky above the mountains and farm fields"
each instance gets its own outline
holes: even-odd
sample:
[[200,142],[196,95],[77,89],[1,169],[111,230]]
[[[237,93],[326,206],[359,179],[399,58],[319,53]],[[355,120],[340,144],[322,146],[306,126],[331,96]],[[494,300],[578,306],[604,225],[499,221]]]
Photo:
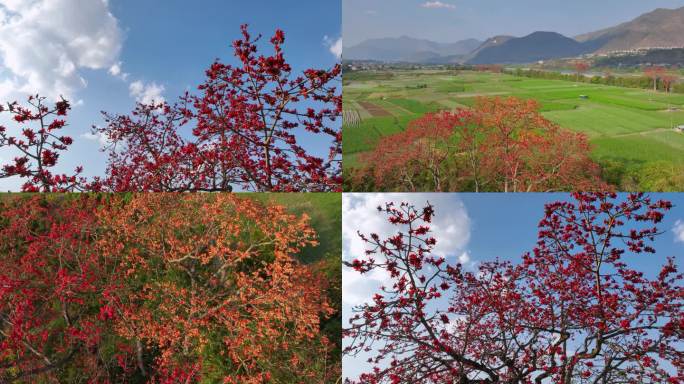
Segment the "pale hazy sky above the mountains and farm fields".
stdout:
[[342,0],[344,45],[407,35],[438,42],[554,31],[575,36],[684,0]]

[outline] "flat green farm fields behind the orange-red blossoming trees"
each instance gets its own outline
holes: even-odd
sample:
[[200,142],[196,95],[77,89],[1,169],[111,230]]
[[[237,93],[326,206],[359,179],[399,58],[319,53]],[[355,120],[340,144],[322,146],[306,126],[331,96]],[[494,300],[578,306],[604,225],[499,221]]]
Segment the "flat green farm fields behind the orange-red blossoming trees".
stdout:
[[478,96],[539,101],[548,119],[588,135],[600,163],[627,170],[653,161],[684,164],[684,134],[671,129],[684,124],[682,94],[444,70],[352,72],[343,88],[345,167],[357,164],[379,137],[405,129],[422,114],[468,107]]

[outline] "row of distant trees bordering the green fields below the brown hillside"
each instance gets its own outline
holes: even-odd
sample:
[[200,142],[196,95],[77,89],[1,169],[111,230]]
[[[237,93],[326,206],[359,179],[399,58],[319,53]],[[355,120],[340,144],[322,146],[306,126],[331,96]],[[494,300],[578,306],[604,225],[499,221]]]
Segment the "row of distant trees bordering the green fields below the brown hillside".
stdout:
[[654,89],[663,92],[684,93],[684,85],[677,83],[680,76],[676,72],[668,71],[664,67],[646,67],[643,76],[615,76],[609,70],[606,70],[602,76],[584,76],[589,68],[591,67],[588,63],[580,61],[573,65],[574,74],[522,68],[506,70],[505,72],[509,75],[536,79],[565,80],[625,88]]

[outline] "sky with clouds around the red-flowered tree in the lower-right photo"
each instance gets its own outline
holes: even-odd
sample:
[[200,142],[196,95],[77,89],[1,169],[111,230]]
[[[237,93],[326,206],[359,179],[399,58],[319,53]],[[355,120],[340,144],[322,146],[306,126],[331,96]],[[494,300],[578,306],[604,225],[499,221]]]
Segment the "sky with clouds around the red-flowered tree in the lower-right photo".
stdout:
[[[664,233],[657,238],[656,255],[626,258],[630,266],[654,276],[670,256],[682,260],[684,254],[684,194],[652,194],[654,199],[670,200],[675,207],[659,225]],[[544,213],[544,204],[570,200],[567,194],[472,194],[472,193],[345,193],[342,197],[342,258],[351,261],[365,250],[357,231],[375,232],[381,237],[395,234],[397,227],[389,225],[376,209],[385,202],[410,202],[422,207],[426,202],[435,206],[432,225],[438,240],[436,253],[448,262],[462,263],[475,270],[478,263],[494,259],[519,261],[531,251],[537,240],[537,223]],[[681,264],[681,262],[680,262]],[[388,276],[380,272],[361,275],[353,269],[342,271],[342,326],[348,325],[351,309],[370,299]],[[343,359],[344,377],[355,378],[367,372],[370,354]]]

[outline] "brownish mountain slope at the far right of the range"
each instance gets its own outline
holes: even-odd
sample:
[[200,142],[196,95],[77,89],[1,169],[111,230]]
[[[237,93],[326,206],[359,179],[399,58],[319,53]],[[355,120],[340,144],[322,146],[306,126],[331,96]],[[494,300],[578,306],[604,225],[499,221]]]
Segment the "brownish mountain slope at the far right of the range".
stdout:
[[599,53],[639,48],[684,47],[684,7],[656,9],[618,26],[575,37]]

